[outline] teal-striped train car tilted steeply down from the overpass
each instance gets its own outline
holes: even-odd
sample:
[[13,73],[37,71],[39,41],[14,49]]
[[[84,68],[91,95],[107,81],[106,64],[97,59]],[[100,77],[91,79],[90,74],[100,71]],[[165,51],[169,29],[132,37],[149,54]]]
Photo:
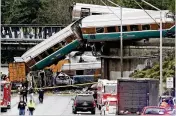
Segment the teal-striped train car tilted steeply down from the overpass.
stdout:
[[79,20],[34,46],[21,57],[30,69],[40,70],[65,57],[80,45]]

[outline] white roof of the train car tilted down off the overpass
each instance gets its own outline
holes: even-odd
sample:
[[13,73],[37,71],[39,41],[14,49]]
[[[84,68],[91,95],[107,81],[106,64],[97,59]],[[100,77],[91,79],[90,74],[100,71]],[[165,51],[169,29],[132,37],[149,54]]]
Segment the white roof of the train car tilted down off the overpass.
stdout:
[[[28,51],[26,51],[21,57],[24,59],[24,61],[30,59],[30,56],[33,56],[34,54],[40,54],[42,51],[47,50],[49,47],[51,47],[54,44],[57,44],[58,42],[62,41],[64,37],[67,35],[66,32],[70,31],[70,27],[73,25],[70,24],[66,28],[62,29],[61,31],[57,32],[56,34],[52,35],[51,37],[45,39],[41,43],[37,44],[36,46],[32,47]],[[42,49],[41,49],[42,48]]]

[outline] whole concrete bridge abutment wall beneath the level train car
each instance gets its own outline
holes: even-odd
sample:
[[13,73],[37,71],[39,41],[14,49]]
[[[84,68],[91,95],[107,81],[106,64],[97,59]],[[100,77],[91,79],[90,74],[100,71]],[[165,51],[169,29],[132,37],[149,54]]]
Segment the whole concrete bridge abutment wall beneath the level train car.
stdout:
[[[142,70],[158,60],[158,49],[139,49],[135,46],[123,48],[123,77],[129,77],[135,70]],[[115,80],[121,78],[120,48],[107,47],[101,56],[102,78]]]

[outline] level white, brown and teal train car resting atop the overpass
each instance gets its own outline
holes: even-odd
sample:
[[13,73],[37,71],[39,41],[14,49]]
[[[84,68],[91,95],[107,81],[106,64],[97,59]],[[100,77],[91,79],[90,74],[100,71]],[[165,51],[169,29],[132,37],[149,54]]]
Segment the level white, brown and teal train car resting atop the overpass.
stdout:
[[[169,11],[162,11],[162,35],[175,35],[173,18],[166,17]],[[160,12],[148,11],[155,19],[151,19],[144,11],[135,13],[124,12],[122,20],[123,40],[141,40],[160,37]],[[82,19],[81,30],[83,39],[89,42],[118,41],[121,35],[120,14],[91,15]]]

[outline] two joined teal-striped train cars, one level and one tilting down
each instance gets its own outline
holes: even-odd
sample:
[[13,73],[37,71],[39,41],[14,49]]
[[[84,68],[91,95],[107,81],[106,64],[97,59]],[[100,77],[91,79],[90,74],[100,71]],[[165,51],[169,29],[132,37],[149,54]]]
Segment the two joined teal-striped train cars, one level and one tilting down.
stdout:
[[[123,12],[123,40],[141,40],[160,37],[160,12],[143,10],[133,13]],[[163,37],[175,35],[172,17],[166,17],[167,10],[162,11]],[[21,57],[32,70],[41,70],[46,66],[64,59],[84,42],[105,42],[120,40],[120,13],[92,15],[79,19],[55,35],[28,50]]]

